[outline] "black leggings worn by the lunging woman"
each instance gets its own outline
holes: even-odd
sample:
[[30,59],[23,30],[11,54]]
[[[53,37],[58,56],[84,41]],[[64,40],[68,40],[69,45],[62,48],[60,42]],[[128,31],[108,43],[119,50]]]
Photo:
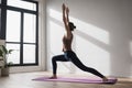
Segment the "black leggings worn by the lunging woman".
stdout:
[[81,70],[91,73],[100,78],[103,78],[105,76],[101,75],[99,72],[97,72],[94,68],[85,66],[77,57],[77,55],[73,51],[67,51],[63,55],[57,55],[52,58],[52,64],[53,64],[53,74],[56,75],[57,70],[57,63],[56,62],[72,62],[75,64],[78,68]]

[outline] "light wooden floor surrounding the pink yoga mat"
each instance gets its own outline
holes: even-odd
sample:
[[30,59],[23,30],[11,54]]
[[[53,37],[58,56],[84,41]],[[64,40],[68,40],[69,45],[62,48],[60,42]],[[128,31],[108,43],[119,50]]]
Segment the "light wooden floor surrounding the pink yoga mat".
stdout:
[[[118,78],[116,85],[102,84],[78,84],[78,82],[58,82],[58,81],[34,81],[33,78],[51,76],[51,73],[22,73],[11,74],[9,77],[0,77],[0,88],[132,88],[131,78]],[[65,76],[65,75],[61,75]],[[87,77],[82,75],[66,75],[74,77]]]

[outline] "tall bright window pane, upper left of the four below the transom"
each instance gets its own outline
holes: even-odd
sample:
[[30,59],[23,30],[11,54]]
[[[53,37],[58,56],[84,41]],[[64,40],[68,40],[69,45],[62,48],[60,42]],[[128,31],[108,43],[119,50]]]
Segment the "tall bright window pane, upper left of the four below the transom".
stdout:
[[[20,42],[20,12],[7,11],[7,41]],[[14,34],[15,32],[15,34]]]

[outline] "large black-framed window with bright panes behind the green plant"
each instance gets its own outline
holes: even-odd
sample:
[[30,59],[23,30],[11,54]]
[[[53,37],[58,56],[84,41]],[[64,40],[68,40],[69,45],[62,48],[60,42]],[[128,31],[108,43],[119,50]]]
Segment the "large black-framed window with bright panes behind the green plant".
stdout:
[[7,0],[6,45],[15,50],[8,62],[16,66],[37,65],[37,2]]

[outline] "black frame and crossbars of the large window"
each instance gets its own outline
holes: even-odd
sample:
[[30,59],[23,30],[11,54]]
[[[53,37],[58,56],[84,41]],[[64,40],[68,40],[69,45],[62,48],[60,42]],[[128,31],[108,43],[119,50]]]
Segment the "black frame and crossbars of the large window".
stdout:
[[[20,36],[20,42],[7,42],[6,44],[20,44],[20,64],[13,64],[12,66],[36,66],[38,65],[38,2],[37,1],[33,1],[33,0],[22,0],[22,1],[28,1],[28,2],[33,2],[36,4],[36,11],[32,11],[32,10],[26,10],[26,9],[22,9],[22,8],[16,8],[16,7],[12,7],[12,6],[8,6],[7,4],[7,0],[2,0],[4,1],[4,21],[7,21],[7,11],[11,10],[11,11],[16,11],[21,13],[21,36]],[[1,7],[1,6],[0,6]],[[35,36],[35,43],[25,43],[23,42],[23,20],[24,20],[24,13],[30,13],[30,14],[35,14],[36,15],[36,36]],[[4,34],[4,40],[6,40],[6,30],[7,30],[7,22],[4,22],[4,30],[3,30],[3,34]],[[24,44],[33,44],[35,45],[35,63],[23,63],[23,45]]]

